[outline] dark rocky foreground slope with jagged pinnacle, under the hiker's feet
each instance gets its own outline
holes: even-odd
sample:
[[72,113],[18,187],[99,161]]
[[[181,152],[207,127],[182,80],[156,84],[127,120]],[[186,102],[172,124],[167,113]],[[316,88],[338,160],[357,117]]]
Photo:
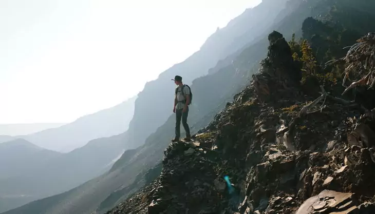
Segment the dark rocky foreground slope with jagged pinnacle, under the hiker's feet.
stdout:
[[372,111],[301,86],[283,35],[269,43],[251,85],[192,142],[170,144],[160,176],[107,214],[375,213]]

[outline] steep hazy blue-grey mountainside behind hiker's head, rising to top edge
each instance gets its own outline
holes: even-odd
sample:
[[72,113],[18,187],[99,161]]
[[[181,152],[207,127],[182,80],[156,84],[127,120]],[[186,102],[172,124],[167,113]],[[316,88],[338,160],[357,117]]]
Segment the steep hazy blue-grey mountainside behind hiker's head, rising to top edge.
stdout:
[[[238,49],[232,45],[238,41],[238,37],[243,36],[241,43],[246,44],[265,32],[267,27],[273,24],[274,17],[284,8],[286,1],[264,1],[257,7],[246,10],[234,18],[228,26],[212,34],[199,51],[184,62],[161,73],[157,80],[148,82],[144,90],[138,94],[135,104],[134,118],[130,122],[126,139],[129,148],[142,145],[146,138],[170,116],[171,99],[173,102],[175,88],[171,78],[178,74],[182,76],[185,84],[191,84],[197,77],[208,74],[208,70],[219,60]],[[258,25],[259,20],[264,20],[264,25]],[[159,96],[159,94],[163,95]],[[153,106],[150,111],[149,103],[158,103],[158,105]]]

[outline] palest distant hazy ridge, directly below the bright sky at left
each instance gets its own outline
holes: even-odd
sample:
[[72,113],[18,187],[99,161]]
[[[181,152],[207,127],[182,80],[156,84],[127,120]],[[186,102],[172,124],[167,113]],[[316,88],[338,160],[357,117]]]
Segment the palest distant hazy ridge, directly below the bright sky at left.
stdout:
[[28,135],[20,135],[37,146],[50,150],[69,152],[87,142],[123,133],[128,129],[134,114],[136,96],[123,103],[82,116],[76,121]]

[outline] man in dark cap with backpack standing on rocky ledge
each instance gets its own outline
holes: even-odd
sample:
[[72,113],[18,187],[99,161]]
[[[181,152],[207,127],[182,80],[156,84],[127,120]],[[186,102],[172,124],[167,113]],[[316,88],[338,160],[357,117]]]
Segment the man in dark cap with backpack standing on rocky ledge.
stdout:
[[176,127],[175,127],[175,138],[172,140],[172,142],[177,142],[180,140],[180,124],[181,124],[181,118],[182,118],[182,125],[186,132],[186,138],[184,138],[185,141],[190,141],[191,135],[190,135],[190,128],[188,125],[188,114],[189,114],[189,105],[191,103],[192,99],[192,93],[190,90],[190,87],[188,85],[182,84],[182,77],[179,75],[175,76],[175,79],[172,79],[175,81],[175,84],[177,85],[175,90],[175,103],[173,107],[173,113],[176,113]]

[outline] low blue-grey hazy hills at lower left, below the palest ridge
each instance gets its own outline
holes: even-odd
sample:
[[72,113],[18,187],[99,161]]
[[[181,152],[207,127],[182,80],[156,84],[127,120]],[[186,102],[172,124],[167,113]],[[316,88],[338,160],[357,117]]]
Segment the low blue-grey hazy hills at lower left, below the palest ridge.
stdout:
[[0,204],[4,204],[0,212],[100,176],[123,152],[121,135],[92,140],[69,153],[46,150],[22,139],[0,144]]

